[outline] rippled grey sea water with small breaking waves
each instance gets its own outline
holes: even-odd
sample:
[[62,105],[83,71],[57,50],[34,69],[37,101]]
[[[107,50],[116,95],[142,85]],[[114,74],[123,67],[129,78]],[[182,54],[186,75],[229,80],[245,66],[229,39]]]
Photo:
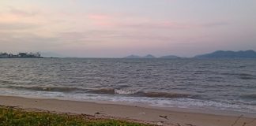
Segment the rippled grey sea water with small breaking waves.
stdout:
[[0,59],[0,95],[256,113],[256,60]]

